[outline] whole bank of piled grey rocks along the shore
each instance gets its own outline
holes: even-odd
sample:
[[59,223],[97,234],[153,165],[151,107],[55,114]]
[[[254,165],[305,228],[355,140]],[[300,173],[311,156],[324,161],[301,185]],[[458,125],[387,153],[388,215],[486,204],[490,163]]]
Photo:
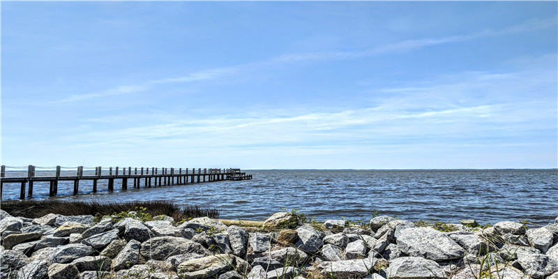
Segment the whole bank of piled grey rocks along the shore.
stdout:
[[0,210],[0,278],[558,279],[558,218],[543,227],[464,220],[441,232],[389,216],[360,226],[287,212],[259,226],[144,217]]

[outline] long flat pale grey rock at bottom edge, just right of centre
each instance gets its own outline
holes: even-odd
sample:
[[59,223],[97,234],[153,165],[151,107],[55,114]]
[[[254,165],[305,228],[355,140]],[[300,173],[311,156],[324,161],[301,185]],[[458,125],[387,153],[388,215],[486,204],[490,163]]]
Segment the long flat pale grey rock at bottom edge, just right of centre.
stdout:
[[322,262],[318,264],[319,273],[326,278],[349,279],[363,278],[371,273],[377,259],[347,259],[345,261]]

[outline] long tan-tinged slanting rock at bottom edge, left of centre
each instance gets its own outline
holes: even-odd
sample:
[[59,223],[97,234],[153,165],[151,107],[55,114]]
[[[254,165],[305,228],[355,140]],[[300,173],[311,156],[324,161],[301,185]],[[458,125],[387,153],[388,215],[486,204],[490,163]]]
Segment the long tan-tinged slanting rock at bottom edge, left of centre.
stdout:
[[235,255],[213,255],[179,264],[178,274],[183,279],[211,278],[223,271],[242,270],[247,265],[243,259]]

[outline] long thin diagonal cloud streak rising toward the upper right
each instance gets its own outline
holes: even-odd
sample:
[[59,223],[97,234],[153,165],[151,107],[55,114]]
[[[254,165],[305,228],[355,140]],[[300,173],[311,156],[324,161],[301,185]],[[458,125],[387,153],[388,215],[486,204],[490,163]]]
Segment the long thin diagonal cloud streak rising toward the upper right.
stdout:
[[364,50],[364,51],[306,52],[306,53],[284,54],[265,61],[255,61],[252,63],[245,63],[236,66],[213,68],[209,70],[200,70],[195,73],[190,73],[189,75],[185,75],[182,77],[181,76],[168,77],[168,78],[163,78],[158,80],[150,80],[139,84],[116,86],[113,89],[107,89],[106,91],[100,91],[96,93],[75,94],[75,95],[68,96],[66,98],[62,98],[60,100],[55,100],[52,103],[68,103],[68,102],[75,102],[80,100],[88,100],[91,98],[102,98],[106,96],[114,96],[114,95],[121,95],[121,94],[140,93],[142,91],[147,91],[151,89],[153,86],[156,86],[158,84],[189,83],[189,82],[201,82],[205,80],[215,80],[220,77],[226,75],[234,75],[236,73],[240,73],[245,70],[256,70],[256,69],[276,66],[278,64],[327,61],[327,60],[335,60],[335,59],[339,59],[339,60],[358,59],[364,56],[377,56],[382,54],[389,54],[392,52],[406,52],[406,51],[418,50],[423,47],[444,45],[447,43],[458,43],[458,42],[474,40],[478,38],[487,38],[491,36],[504,36],[512,33],[521,33],[527,31],[534,31],[537,29],[545,29],[548,27],[553,27],[556,24],[557,24],[556,18],[531,20],[506,29],[500,29],[500,30],[485,29],[483,31],[478,31],[478,32],[469,33],[465,35],[458,35],[458,36],[447,36],[442,38],[425,38],[425,39],[418,39],[418,40],[405,40],[399,43],[380,45],[378,47],[373,47],[369,50]]

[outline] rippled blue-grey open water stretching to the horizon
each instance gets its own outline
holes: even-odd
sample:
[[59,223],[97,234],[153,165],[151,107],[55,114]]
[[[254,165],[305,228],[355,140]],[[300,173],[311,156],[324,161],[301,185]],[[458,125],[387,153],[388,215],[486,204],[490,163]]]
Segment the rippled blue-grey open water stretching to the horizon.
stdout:
[[[220,218],[264,220],[271,213],[297,209],[317,220],[343,217],[370,220],[374,211],[405,220],[478,223],[525,219],[554,222],[558,216],[558,170],[257,170],[254,179],[107,191],[107,181],[59,183],[48,197],[48,183],[35,183],[33,199],[97,202],[169,200],[220,211]],[[5,184],[2,200],[17,199],[20,186]]]

